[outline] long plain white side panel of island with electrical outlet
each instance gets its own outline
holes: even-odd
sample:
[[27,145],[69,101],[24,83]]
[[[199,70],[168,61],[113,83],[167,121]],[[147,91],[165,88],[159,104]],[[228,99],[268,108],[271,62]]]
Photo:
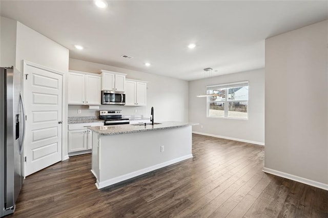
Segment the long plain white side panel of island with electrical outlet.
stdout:
[[97,187],[103,188],[192,158],[192,127],[100,135],[99,146]]

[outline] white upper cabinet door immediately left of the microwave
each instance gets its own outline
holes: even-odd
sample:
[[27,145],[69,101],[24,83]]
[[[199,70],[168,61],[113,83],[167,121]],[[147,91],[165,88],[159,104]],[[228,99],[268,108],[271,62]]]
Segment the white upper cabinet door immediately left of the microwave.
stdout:
[[101,77],[86,75],[86,104],[101,104]]

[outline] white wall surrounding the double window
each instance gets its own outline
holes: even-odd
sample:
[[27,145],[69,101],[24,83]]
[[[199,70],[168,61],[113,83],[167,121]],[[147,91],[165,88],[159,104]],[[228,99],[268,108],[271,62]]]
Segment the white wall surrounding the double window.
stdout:
[[[249,81],[249,119],[208,118],[207,85]],[[199,123],[194,132],[232,138],[240,141],[264,143],[264,69],[227,74],[189,82],[189,121]],[[203,128],[201,128],[203,126]]]

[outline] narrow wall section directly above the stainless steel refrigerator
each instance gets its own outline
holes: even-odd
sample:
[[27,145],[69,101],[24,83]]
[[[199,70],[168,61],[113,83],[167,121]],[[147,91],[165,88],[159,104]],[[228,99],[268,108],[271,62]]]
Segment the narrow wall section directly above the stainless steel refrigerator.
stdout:
[[1,17],[0,20],[0,66],[15,66],[17,21],[7,17]]

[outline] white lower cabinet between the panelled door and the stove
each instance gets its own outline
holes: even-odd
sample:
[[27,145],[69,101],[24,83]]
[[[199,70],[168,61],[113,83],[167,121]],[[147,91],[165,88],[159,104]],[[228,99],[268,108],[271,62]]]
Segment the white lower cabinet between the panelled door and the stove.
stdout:
[[103,126],[104,123],[74,123],[68,126],[68,153],[70,156],[91,152],[92,131],[89,126]]

